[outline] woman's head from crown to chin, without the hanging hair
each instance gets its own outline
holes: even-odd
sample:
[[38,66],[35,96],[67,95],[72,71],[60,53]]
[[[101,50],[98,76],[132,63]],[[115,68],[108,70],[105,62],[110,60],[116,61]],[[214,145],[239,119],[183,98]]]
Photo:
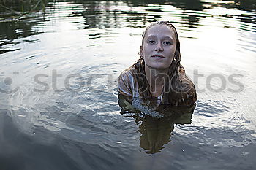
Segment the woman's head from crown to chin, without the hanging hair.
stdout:
[[[177,67],[181,60],[176,28],[168,21],[151,24],[143,32],[140,60],[155,69]],[[171,68],[170,68],[171,69]]]

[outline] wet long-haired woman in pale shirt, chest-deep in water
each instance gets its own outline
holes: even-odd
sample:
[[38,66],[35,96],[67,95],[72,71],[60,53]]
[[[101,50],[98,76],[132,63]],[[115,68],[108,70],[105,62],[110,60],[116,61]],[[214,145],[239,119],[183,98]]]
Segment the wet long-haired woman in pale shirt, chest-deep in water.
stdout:
[[140,59],[118,78],[119,94],[126,96],[128,101],[134,98],[156,101],[157,106],[195,104],[195,85],[180,64],[176,28],[161,21],[148,26],[142,36]]

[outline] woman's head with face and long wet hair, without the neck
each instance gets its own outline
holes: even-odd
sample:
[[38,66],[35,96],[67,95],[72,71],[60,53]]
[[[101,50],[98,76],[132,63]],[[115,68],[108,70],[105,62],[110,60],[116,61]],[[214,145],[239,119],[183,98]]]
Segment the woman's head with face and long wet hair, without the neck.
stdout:
[[[151,35],[153,35],[152,39]],[[151,98],[145,65],[154,69],[168,69],[162,99],[162,103],[168,104],[173,101],[173,98],[176,98],[180,91],[179,86],[181,86],[181,82],[178,80],[178,69],[181,65],[178,33],[170,22],[160,21],[148,26],[142,36],[140,59],[135,62],[135,69],[137,69],[135,81],[138,82],[140,96]]]

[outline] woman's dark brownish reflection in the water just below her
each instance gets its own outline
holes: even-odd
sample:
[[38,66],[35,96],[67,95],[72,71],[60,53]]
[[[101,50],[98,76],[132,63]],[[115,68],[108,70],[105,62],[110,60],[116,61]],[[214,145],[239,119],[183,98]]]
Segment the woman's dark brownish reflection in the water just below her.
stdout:
[[140,123],[138,130],[141,134],[140,147],[149,154],[161,152],[165,148],[164,145],[171,141],[175,124],[191,124],[195,110],[195,104],[191,107],[162,106],[156,110],[159,115],[163,115],[159,118],[138,111],[126,101],[124,96],[118,96],[118,104],[121,107],[121,114],[133,117],[136,123]]

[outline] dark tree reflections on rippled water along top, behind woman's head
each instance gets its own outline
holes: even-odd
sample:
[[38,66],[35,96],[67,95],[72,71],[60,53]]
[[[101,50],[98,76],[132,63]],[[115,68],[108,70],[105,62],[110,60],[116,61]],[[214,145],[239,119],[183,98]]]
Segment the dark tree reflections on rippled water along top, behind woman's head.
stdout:
[[[83,8],[75,9],[70,17],[83,16],[85,28],[132,28],[143,27],[141,23],[154,22],[165,18],[165,15],[173,15],[173,23],[189,28],[197,28],[200,18],[213,17],[208,15],[205,9],[215,7],[223,9],[255,10],[253,1],[200,1],[200,0],[173,0],[173,1],[75,1],[83,5]],[[150,4],[150,6],[149,6]],[[160,5],[162,4],[162,5]],[[146,7],[140,9],[139,7]],[[178,9],[178,11],[176,11]],[[222,9],[222,10],[223,10]],[[195,13],[195,11],[202,13]],[[207,11],[207,10],[206,10]],[[181,19],[177,17],[181,15]],[[252,23],[254,15],[224,15],[226,18],[241,18],[243,22]],[[125,21],[125,22],[124,22]]]

